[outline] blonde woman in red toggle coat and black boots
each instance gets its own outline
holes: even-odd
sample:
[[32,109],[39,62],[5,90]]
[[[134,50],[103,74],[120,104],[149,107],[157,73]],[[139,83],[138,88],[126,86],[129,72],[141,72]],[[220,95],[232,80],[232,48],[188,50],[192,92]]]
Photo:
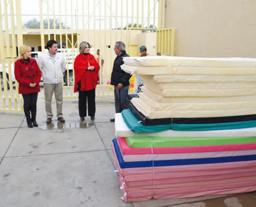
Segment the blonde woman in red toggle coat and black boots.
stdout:
[[35,117],[37,115],[37,96],[40,92],[39,83],[42,73],[37,61],[31,58],[31,47],[22,45],[19,48],[19,53],[21,58],[14,64],[15,79],[19,83],[19,94],[23,96],[23,108],[28,127],[38,127]]

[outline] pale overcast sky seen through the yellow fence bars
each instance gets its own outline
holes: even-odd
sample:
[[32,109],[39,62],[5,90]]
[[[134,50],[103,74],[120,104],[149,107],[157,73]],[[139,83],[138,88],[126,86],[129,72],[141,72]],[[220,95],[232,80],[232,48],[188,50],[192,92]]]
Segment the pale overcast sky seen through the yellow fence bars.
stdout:
[[[8,3],[9,0],[0,0],[1,2],[1,9],[2,9],[2,23],[3,23],[3,29],[5,30],[5,16],[4,14],[4,1]],[[36,18],[40,20],[40,0],[21,0],[21,11],[22,11],[22,23],[24,24],[28,20],[32,18]],[[158,2],[157,0],[42,0],[43,4],[43,18],[47,18],[47,1],[49,4],[49,18],[53,18],[53,11],[55,13],[55,18],[59,19],[59,15],[61,14],[61,21],[64,24],[67,24],[68,27],[72,28],[73,23],[73,29],[88,29],[88,1],[89,1],[89,16],[90,16],[90,29],[104,29],[105,28],[105,21],[106,21],[106,29],[110,29],[111,22],[112,22],[112,28],[116,27],[116,19],[117,19],[117,27],[121,27],[123,22],[123,27],[126,25],[127,22],[127,14],[128,14],[128,23],[132,22],[132,2],[133,2],[133,23],[137,23],[137,19],[139,20],[139,24],[142,24],[142,1],[144,2],[144,18],[143,23],[144,27],[147,27],[148,21],[147,21],[147,15],[148,10],[151,12],[150,14],[150,21],[149,23],[153,25],[153,17],[154,17],[154,2],[156,3],[156,9],[155,9],[155,25],[157,27],[158,23]],[[84,25],[83,25],[83,4],[84,1]],[[123,1],[123,6],[121,5],[121,2]],[[127,4],[128,1],[128,13],[127,13]],[[14,14],[15,14],[15,25],[16,25],[16,5],[15,0],[14,2]],[[60,4],[59,4],[60,2]],[[65,7],[66,2],[66,7]],[[95,5],[94,5],[95,2]],[[106,18],[105,18],[105,2],[106,2]],[[116,4],[117,3],[117,4]],[[139,4],[139,7],[137,7],[137,3]],[[60,6],[59,6],[60,5]],[[77,9],[78,5],[78,9]],[[148,8],[149,5],[149,8]],[[96,9],[94,10],[94,6]],[[111,12],[110,7],[112,7],[112,21],[110,18]],[[117,11],[116,11],[117,7]],[[123,7],[123,21],[121,18],[122,14],[122,7]],[[137,8],[139,11],[139,15],[137,18]],[[67,11],[67,12],[66,12]],[[95,14],[94,14],[95,11]],[[116,13],[117,12],[117,13]],[[10,3],[8,5],[8,21],[11,22],[10,18]],[[67,22],[65,20],[65,13],[67,14]],[[73,18],[71,14],[73,13]],[[117,18],[115,18],[117,14]],[[76,16],[78,16],[78,21]],[[95,15],[95,17],[94,17]],[[101,15],[101,17],[100,17]],[[78,23],[77,23],[78,22]],[[95,28],[94,28],[94,22],[95,22]],[[11,23],[8,23],[9,29],[11,29]]]

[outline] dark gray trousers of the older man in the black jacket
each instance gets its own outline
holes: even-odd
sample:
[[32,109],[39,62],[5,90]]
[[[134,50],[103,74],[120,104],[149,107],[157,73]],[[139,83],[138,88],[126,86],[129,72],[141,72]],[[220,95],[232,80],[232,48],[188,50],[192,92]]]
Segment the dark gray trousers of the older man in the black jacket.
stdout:
[[124,109],[127,109],[129,106],[129,99],[128,99],[128,91],[129,85],[123,86],[122,89],[118,89],[115,86],[114,93],[115,93],[115,109],[116,113],[121,113]]

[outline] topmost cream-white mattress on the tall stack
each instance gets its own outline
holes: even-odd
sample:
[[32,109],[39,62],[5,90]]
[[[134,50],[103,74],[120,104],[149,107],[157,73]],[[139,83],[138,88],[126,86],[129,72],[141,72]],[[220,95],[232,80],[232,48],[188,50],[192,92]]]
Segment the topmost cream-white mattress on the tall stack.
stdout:
[[[254,58],[192,58],[192,57],[124,57],[124,64],[129,66],[189,66],[189,67],[256,67]],[[202,75],[202,74],[201,74]]]

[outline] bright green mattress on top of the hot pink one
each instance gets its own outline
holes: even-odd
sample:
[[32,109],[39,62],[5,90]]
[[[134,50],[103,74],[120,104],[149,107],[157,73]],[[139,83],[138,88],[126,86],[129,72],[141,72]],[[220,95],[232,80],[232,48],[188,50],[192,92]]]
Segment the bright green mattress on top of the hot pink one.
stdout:
[[[256,143],[256,137],[126,137],[131,148],[192,147]],[[153,141],[151,144],[151,140]]]

